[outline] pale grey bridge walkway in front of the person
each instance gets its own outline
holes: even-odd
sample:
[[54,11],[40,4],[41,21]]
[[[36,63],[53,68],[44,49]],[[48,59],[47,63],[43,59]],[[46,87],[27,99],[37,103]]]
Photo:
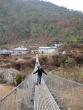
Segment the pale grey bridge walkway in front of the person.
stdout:
[[43,80],[35,86],[34,110],[60,110]]

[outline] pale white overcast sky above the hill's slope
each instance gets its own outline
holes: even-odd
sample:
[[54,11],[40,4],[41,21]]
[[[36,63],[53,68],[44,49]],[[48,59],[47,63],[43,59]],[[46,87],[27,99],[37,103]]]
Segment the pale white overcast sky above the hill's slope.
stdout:
[[59,6],[64,6],[70,9],[79,10],[83,12],[83,0],[45,0],[55,3]]

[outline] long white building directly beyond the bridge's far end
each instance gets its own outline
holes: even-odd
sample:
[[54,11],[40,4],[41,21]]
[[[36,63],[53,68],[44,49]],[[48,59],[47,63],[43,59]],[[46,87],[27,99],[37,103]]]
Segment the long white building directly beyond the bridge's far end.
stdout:
[[56,47],[39,47],[38,53],[40,53],[40,54],[58,53],[58,49]]

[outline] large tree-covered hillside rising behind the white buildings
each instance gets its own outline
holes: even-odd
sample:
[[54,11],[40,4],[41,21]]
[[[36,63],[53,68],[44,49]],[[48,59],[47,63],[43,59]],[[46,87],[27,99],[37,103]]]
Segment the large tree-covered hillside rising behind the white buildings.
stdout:
[[0,44],[82,41],[83,14],[40,0],[0,0]]

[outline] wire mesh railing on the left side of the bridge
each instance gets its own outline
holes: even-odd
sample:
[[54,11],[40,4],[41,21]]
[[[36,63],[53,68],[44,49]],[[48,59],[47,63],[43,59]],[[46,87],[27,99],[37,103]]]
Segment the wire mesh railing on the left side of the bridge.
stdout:
[[0,100],[0,110],[33,110],[33,93],[34,79],[31,75]]

